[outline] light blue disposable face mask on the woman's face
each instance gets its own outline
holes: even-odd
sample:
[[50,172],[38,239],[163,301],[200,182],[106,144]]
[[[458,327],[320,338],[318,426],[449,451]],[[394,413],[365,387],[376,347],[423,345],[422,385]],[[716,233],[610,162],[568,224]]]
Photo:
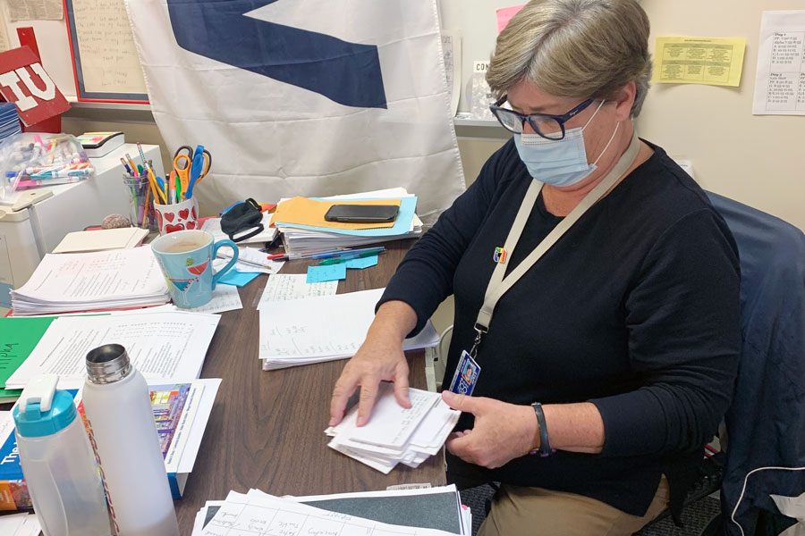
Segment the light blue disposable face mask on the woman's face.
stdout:
[[604,101],[601,101],[583,127],[566,130],[562,139],[547,139],[539,134],[514,134],[514,145],[517,147],[520,159],[529,169],[531,177],[545,184],[560,187],[571,186],[589,177],[589,174],[596,170],[596,163],[606,153],[621,125],[620,122],[615,124],[612,137],[596,161],[587,163],[583,132],[603,105]]

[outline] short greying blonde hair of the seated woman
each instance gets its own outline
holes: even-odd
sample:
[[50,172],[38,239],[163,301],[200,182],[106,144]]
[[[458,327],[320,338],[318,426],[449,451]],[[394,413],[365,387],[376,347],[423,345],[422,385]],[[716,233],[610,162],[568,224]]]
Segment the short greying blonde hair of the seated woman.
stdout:
[[612,99],[633,81],[637,117],[651,79],[648,17],[636,0],[531,0],[497,37],[487,82],[522,80],[553,96]]

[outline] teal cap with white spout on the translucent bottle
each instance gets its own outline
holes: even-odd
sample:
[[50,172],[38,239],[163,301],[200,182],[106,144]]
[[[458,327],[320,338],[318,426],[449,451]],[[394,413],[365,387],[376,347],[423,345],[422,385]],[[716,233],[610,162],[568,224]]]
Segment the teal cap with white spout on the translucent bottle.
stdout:
[[22,389],[20,402],[13,411],[14,425],[22,437],[54,434],[64,430],[75,419],[72,395],[65,390],[56,390],[58,381],[55,374],[43,374]]

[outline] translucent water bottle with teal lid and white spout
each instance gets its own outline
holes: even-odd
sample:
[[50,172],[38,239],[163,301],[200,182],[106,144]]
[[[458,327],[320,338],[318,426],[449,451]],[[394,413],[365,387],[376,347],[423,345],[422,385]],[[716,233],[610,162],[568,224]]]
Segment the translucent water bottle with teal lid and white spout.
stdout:
[[46,536],[107,536],[104,486],[72,395],[55,374],[37,376],[14,406],[17,450]]

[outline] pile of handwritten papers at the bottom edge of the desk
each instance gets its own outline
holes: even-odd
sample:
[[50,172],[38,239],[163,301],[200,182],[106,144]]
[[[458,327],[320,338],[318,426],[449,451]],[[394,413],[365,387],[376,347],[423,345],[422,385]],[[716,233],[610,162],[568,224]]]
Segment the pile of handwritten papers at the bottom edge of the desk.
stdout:
[[[454,486],[445,486],[430,490],[416,490],[425,496],[435,497],[436,494],[452,493],[456,499],[449,505],[448,515],[455,515],[454,509],[461,509],[458,492]],[[416,508],[411,501],[406,501],[406,495],[412,496],[415,492],[405,494],[392,494],[387,492],[373,492],[370,494],[375,497],[399,498],[395,506],[402,508],[396,513],[396,517],[402,517],[407,523],[422,523],[422,510],[433,510],[432,505],[425,508]],[[446,493],[445,493],[446,491]],[[352,509],[346,506],[338,509],[338,506],[345,506],[340,498],[346,498],[343,494],[322,497],[329,499],[327,505],[321,508],[311,507],[303,504],[308,502],[308,498],[275,497],[263,491],[249,490],[242,494],[230,491],[224,501],[208,501],[205,507],[199,510],[196,521],[193,524],[191,536],[240,536],[242,534],[283,534],[284,536],[301,536],[302,534],[338,534],[339,536],[448,536],[450,534],[470,534],[470,517],[459,513],[454,531],[414,526],[411,524],[390,524],[377,521],[378,516],[388,515],[388,509],[371,509],[365,515],[359,517],[352,515]],[[333,507],[335,503],[335,507]],[[341,505],[339,505],[341,503]],[[354,501],[352,501],[354,504]],[[389,503],[386,503],[389,504]],[[425,503],[426,505],[428,503]],[[458,505],[458,506],[456,506]],[[438,523],[438,522],[436,522]]]

